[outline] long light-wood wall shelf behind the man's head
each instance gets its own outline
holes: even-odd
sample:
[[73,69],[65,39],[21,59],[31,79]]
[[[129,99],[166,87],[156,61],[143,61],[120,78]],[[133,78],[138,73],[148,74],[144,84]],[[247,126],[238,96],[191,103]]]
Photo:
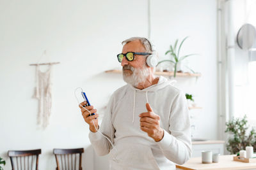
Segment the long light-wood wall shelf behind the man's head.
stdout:
[[[118,70],[118,69],[111,69],[111,70],[107,70],[105,71],[105,73],[122,73],[122,70]],[[173,71],[169,71],[169,72],[160,72],[160,71],[156,71],[155,72],[156,75],[159,76],[173,76],[174,73]],[[176,73],[177,76],[180,77],[198,77],[201,76],[200,73]]]

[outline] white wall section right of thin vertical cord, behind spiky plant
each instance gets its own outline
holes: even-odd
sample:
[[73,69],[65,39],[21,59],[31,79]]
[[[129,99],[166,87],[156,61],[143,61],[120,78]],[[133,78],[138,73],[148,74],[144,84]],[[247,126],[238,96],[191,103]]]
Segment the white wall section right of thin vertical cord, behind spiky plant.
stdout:
[[[195,138],[217,139],[217,54],[216,1],[152,1],[152,39],[159,55],[175,39],[189,36],[182,47],[183,55],[199,53],[188,58],[189,67],[202,77],[178,78],[177,87],[195,95],[202,110],[191,110]],[[179,83],[180,81],[180,83]],[[221,132],[222,133],[222,132]]]

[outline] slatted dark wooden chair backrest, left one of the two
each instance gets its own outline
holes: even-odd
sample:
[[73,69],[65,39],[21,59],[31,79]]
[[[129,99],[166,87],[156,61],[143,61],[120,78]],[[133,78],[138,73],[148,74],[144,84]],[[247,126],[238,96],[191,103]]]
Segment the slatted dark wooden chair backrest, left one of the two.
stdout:
[[41,149],[8,151],[13,170],[38,170],[39,154],[41,154]]

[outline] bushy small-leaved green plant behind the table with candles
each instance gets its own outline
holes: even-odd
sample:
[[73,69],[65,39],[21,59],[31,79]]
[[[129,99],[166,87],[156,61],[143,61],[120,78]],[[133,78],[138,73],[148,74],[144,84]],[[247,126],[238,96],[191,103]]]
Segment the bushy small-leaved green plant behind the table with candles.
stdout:
[[226,123],[226,131],[232,134],[231,138],[228,138],[227,150],[231,154],[236,154],[240,150],[245,150],[246,146],[253,146],[255,151],[256,146],[256,132],[255,129],[246,134],[248,130],[246,115],[243,118],[232,119]]

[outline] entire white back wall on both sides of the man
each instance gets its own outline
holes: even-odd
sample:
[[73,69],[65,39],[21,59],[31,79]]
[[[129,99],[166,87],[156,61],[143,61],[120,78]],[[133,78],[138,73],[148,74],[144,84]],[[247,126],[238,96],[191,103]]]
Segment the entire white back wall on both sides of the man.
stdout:
[[[0,157],[10,169],[8,150],[42,148],[40,169],[56,166],[52,148],[83,147],[84,169],[101,169],[88,139],[88,125],[77,108],[74,89],[83,87],[102,114],[111,93],[125,83],[116,53],[120,42],[147,36],[147,1],[0,1]],[[216,2],[215,0],[152,1],[152,39],[161,57],[176,38],[190,38],[184,54],[202,77],[181,80],[182,90],[196,95],[204,109],[195,119],[198,137],[216,139]],[[42,52],[47,55],[41,57]],[[186,52],[185,52],[186,51]],[[53,69],[50,125],[36,125],[32,99],[38,62],[61,62]],[[43,68],[45,69],[45,68]],[[102,159],[104,162],[104,160]],[[105,162],[106,163],[106,162]],[[106,167],[105,167],[106,168]]]

